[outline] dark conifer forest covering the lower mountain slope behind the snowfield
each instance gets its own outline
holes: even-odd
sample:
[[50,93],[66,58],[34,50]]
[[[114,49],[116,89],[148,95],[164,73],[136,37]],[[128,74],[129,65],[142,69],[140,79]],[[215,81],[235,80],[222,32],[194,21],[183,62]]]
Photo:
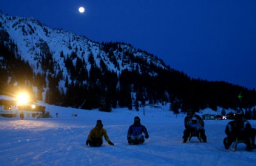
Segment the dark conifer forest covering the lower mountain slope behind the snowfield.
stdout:
[[[114,50],[124,51],[119,44],[101,44],[116,66],[118,57],[113,54]],[[198,111],[207,107],[217,110],[217,106],[224,109],[250,109],[256,105],[255,89],[248,90],[225,81],[194,79],[170,67],[162,68],[147,63],[130,51],[125,51],[123,57],[125,63],[135,66],[122,70],[120,74],[110,71],[102,59],[98,67],[92,53],[88,61],[79,58],[76,52],[70,56],[61,52],[60,56],[63,57],[69,76],[64,76],[63,71],[55,66],[53,56],[49,53],[39,55],[42,58],[38,65],[42,65],[43,71],[35,73],[28,62],[21,60],[15,44],[6,46],[2,41],[0,94],[9,95],[18,89],[27,89],[35,100],[42,100],[45,94],[45,102],[49,104],[82,109],[99,108],[106,112],[116,107],[138,110],[145,105],[145,101],[149,104],[170,102],[170,109],[174,112],[184,112],[187,108]],[[91,66],[89,71],[87,65]],[[60,81],[65,82],[65,88],[59,86]]]

